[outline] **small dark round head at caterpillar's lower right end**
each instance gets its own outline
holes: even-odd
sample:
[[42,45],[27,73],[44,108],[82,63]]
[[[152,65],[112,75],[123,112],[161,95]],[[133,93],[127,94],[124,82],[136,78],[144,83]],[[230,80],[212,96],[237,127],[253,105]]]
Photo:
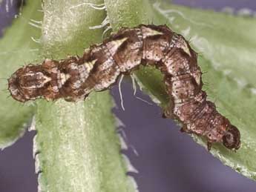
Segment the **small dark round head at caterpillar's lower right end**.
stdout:
[[223,145],[232,150],[240,148],[240,132],[234,125],[229,125],[229,129],[224,134]]

